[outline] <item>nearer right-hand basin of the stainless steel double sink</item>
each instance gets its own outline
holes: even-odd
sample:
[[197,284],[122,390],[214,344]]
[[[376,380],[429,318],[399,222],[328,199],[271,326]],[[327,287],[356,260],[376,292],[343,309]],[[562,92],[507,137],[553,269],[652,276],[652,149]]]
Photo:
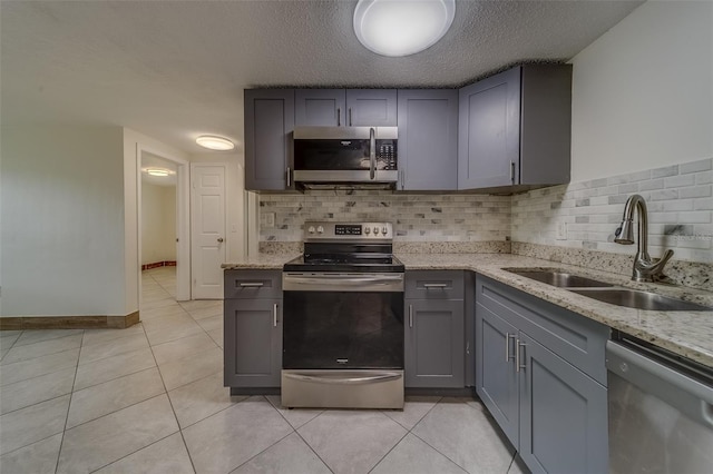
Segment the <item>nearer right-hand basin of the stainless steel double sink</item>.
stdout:
[[628,288],[577,288],[572,293],[599,302],[636,309],[657,312],[711,312],[713,307],[697,305],[683,299],[670,298],[655,293]]

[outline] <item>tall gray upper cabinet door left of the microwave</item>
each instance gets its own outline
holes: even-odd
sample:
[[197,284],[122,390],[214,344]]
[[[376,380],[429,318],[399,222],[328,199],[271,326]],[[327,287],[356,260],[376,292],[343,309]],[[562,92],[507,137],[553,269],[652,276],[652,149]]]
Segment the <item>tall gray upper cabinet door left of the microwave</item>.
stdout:
[[245,189],[287,189],[294,91],[245,90]]

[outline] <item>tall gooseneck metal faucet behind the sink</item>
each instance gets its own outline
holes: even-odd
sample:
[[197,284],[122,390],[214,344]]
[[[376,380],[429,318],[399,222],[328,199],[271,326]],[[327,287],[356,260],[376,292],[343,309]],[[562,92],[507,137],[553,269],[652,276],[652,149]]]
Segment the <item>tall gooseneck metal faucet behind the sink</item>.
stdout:
[[622,225],[614,233],[614,241],[622,245],[634,244],[634,210],[638,209],[638,248],[634,256],[634,270],[632,279],[634,282],[655,282],[675,285],[675,282],[663,274],[664,266],[673,256],[673,250],[668,249],[658,261],[654,261],[648,255],[648,216],[646,201],[639,195],[632,195],[624,206]]

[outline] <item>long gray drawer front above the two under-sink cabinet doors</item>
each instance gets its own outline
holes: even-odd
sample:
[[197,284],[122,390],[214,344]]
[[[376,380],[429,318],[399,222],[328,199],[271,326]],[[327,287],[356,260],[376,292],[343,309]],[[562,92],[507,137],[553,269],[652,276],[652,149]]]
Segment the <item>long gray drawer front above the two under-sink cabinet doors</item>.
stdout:
[[607,326],[481,275],[476,300],[606,386]]

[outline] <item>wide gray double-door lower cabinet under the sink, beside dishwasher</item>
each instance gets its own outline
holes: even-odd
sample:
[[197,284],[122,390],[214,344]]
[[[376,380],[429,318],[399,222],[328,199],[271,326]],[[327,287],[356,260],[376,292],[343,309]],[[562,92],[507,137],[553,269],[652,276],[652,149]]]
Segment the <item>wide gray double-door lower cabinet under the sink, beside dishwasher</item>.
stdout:
[[533,472],[608,471],[608,327],[480,275],[476,391]]

